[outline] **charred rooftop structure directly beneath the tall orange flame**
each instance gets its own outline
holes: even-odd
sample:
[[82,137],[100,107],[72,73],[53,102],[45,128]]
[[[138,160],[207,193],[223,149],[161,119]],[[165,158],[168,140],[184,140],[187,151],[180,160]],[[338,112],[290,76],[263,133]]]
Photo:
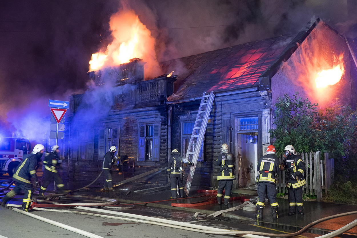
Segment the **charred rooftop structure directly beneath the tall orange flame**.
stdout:
[[131,59],[129,63],[124,63],[118,66],[108,67],[97,71],[91,71],[88,74],[90,79],[94,80],[95,84],[98,86],[106,83],[107,76],[110,78],[114,76],[116,86],[137,83],[144,81],[145,63],[146,62],[142,61],[142,59],[134,58]]

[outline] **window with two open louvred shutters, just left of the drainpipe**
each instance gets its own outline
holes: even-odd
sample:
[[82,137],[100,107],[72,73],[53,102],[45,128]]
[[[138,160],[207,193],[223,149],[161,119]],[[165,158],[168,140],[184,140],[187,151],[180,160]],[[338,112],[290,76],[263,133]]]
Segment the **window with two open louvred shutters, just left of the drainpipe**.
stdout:
[[138,160],[160,160],[160,124],[139,126]]

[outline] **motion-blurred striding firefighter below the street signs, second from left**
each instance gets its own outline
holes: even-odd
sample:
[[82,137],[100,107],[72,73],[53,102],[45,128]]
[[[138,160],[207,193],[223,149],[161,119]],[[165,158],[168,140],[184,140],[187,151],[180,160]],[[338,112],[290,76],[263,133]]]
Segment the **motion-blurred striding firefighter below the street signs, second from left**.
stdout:
[[45,165],[44,180],[39,191],[40,196],[44,196],[47,186],[52,180],[56,182],[56,187],[60,190],[60,193],[64,194],[69,192],[64,189],[65,185],[63,184],[63,181],[58,174],[58,169],[61,169],[58,156],[59,152],[59,146],[54,145],[52,146],[50,153],[45,153],[45,158],[42,162]]

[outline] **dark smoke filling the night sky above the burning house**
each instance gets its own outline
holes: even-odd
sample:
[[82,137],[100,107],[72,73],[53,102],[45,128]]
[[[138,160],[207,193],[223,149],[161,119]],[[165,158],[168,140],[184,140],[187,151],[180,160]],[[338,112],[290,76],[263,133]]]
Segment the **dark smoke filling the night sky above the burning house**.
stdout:
[[50,114],[48,99],[67,100],[87,89],[95,98],[88,62],[111,42],[108,23],[118,9],[139,15],[157,39],[157,58],[165,61],[297,33],[313,16],[356,37],[355,5],[354,0],[1,1],[0,134],[19,130],[37,137],[34,130],[49,126],[42,122]]

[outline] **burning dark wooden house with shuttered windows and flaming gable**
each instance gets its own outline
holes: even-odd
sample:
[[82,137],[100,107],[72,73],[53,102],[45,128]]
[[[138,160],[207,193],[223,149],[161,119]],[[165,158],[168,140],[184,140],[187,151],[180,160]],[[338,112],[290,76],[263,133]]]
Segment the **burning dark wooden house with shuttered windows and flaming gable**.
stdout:
[[[80,112],[85,95],[72,96],[67,120],[69,174],[96,177],[93,173],[100,172],[103,156],[112,145],[130,165],[115,173],[114,181],[166,167],[172,149],[185,156],[201,96],[213,91],[215,100],[192,186],[217,187],[218,168],[213,162],[222,143],[242,157],[236,187],[253,185],[257,160],[271,142],[268,130],[277,98],[299,91],[303,98],[321,105],[335,101],[337,95],[341,102],[355,105],[356,85],[350,73],[355,65],[350,65],[350,58],[346,39],[317,19],[297,36],[278,36],[163,63],[166,72],[175,70],[177,75],[144,80],[140,59],[91,72],[98,87],[110,75],[110,86],[117,93],[112,95],[109,113],[97,116],[92,124]],[[166,174],[157,173],[150,181],[166,184]]]

